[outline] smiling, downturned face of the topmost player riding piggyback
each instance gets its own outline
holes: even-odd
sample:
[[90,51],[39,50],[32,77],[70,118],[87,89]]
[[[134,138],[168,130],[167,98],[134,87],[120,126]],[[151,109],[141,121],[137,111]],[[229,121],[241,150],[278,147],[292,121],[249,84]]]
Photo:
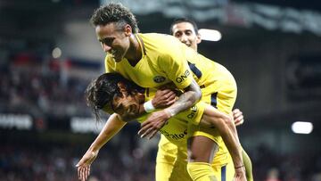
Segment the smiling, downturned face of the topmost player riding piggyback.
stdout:
[[119,29],[115,23],[111,22],[107,25],[98,25],[95,32],[99,42],[105,53],[111,53],[115,62],[120,62],[128,52],[129,37],[131,28],[126,25],[124,29]]

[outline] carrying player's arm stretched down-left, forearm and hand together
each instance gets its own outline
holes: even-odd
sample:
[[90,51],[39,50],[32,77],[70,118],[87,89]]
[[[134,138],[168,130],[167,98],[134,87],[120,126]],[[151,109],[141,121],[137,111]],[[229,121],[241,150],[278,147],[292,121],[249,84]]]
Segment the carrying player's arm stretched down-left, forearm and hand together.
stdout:
[[76,167],[78,168],[78,179],[85,181],[90,174],[90,165],[98,155],[99,150],[106,144],[111,137],[115,136],[126,122],[119,119],[118,114],[111,114],[100,134],[95,138],[93,144],[90,145],[84,156],[79,160]]

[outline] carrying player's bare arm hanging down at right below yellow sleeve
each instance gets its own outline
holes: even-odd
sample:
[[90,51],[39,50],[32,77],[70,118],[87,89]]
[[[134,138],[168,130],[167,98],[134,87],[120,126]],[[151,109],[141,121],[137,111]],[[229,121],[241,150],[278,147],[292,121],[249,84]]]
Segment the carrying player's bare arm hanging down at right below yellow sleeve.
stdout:
[[228,152],[230,152],[232,156],[235,165],[235,180],[246,180],[242,147],[237,136],[233,119],[212,106],[207,106],[200,124],[203,127],[214,126],[218,129],[219,135],[222,136]]

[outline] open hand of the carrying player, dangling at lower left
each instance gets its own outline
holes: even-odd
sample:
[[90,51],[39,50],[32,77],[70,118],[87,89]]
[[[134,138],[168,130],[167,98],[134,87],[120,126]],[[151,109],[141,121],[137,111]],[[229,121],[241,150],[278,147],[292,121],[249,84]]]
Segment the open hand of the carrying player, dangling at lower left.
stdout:
[[84,156],[77,163],[78,179],[81,181],[86,181],[87,177],[90,175],[90,165],[93,163],[98,155],[97,152],[87,151]]

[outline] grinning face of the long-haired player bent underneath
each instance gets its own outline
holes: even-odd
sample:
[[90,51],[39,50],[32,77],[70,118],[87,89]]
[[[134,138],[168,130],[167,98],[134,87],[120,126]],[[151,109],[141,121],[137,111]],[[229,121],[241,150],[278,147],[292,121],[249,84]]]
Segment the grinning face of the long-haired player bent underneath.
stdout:
[[144,102],[138,93],[128,94],[127,92],[122,92],[122,95],[117,95],[113,98],[111,107],[123,119],[129,120],[136,118],[139,113],[139,104],[142,101]]

